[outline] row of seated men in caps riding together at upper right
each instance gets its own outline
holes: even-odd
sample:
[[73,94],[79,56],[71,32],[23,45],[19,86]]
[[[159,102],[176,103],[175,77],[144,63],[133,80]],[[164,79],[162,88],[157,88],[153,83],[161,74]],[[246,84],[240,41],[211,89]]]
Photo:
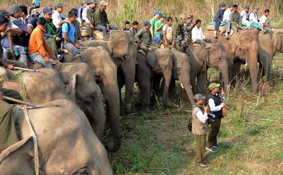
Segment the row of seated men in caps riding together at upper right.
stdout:
[[237,32],[239,29],[243,29],[243,26],[250,27],[251,25],[260,29],[263,33],[267,32],[272,36],[273,31],[268,19],[270,10],[266,9],[261,18],[258,15],[258,10],[258,5],[254,5],[252,12],[249,12],[250,6],[245,5],[244,10],[239,13],[237,4],[230,4],[229,7],[226,8],[226,3],[221,3],[213,19],[215,22],[215,38],[219,35],[218,32],[221,23],[226,24],[224,38],[227,39],[229,38],[230,29]]

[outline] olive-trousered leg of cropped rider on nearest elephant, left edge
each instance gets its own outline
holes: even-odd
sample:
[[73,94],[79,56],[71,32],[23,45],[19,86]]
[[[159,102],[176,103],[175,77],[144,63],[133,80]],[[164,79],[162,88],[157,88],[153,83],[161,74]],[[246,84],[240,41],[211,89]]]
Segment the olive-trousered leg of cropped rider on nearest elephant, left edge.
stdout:
[[5,148],[18,142],[14,113],[11,106],[5,102],[4,96],[22,100],[21,94],[18,92],[0,87],[0,154]]

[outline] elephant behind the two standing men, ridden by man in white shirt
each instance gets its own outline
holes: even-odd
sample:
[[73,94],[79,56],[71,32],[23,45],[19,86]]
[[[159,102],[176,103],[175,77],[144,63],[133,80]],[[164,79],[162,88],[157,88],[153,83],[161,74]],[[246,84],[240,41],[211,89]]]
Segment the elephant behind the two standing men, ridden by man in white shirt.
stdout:
[[[193,94],[200,94],[206,85],[206,70],[208,67],[216,68],[222,72],[225,90],[228,87],[228,60],[224,49],[219,43],[206,44],[202,48],[200,44],[191,44],[187,48],[189,64],[191,65],[190,78]],[[196,85],[197,77],[197,85]]]

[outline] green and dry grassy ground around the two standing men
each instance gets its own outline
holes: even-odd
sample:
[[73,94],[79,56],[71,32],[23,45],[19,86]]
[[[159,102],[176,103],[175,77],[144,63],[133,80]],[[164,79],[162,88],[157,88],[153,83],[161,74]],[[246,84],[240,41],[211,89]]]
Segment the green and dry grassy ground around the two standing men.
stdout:
[[[275,62],[281,60],[282,55],[275,57]],[[275,75],[282,66],[274,66]],[[217,79],[217,71],[208,73],[211,81]],[[208,168],[193,161],[196,141],[187,131],[187,98],[177,107],[163,109],[159,103],[146,115],[124,116],[122,147],[109,154],[114,174],[283,174],[283,82],[275,77],[275,88],[262,96],[251,94],[250,87],[244,90],[241,83],[230,93],[228,118],[222,120],[218,137],[221,148],[206,154]],[[184,96],[180,87],[178,94]]]

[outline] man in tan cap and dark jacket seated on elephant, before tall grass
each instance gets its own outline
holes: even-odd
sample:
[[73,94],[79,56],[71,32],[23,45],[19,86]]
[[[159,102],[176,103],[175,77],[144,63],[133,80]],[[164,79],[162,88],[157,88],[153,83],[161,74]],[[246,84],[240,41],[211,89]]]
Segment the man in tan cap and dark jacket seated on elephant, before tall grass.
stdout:
[[95,29],[102,31],[104,37],[107,36],[108,31],[118,30],[116,26],[110,25],[108,21],[107,13],[105,12],[108,5],[107,1],[100,1],[99,10],[94,12]]

